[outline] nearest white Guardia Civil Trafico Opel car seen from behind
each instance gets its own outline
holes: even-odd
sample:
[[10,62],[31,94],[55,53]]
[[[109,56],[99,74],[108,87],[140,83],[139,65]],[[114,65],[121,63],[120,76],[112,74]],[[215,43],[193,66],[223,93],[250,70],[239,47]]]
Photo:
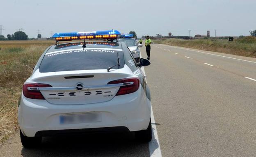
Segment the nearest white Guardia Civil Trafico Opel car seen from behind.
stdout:
[[142,66],[136,63],[116,30],[55,33],[32,75],[25,81],[18,106],[21,143],[36,146],[44,136],[127,131],[143,142],[151,140],[150,90]]

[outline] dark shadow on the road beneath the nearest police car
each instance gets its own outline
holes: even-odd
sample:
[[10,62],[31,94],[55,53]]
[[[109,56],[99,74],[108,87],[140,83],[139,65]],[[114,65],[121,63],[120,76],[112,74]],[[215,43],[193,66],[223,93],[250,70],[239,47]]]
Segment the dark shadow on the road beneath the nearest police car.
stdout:
[[149,157],[149,144],[137,142],[134,133],[43,137],[39,147],[22,148],[21,155],[23,157]]

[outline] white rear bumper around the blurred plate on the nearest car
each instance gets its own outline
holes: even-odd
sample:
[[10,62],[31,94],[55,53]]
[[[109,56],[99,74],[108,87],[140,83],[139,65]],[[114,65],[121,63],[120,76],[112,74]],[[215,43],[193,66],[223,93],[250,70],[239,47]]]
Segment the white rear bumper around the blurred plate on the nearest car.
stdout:
[[[69,114],[100,113],[101,122],[60,124],[59,116]],[[150,121],[150,100],[143,88],[135,93],[115,96],[108,102],[84,105],[57,105],[46,100],[21,97],[18,108],[18,121],[21,131],[28,137],[45,136],[49,133],[121,127],[129,131],[145,130]],[[56,130],[56,131],[54,131]],[[62,130],[62,131],[61,131]],[[68,132],[69,132],[68,131]],[[78,131],[79,132],[79,131]]]

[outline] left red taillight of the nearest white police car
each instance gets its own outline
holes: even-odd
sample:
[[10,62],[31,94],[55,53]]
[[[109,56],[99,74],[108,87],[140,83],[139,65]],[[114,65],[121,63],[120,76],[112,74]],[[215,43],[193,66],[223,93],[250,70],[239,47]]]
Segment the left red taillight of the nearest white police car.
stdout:
[[23,84],[23,94],[30,99],[45,99],[39,91],[39,87],[52,87],[49,84],[25,83]]

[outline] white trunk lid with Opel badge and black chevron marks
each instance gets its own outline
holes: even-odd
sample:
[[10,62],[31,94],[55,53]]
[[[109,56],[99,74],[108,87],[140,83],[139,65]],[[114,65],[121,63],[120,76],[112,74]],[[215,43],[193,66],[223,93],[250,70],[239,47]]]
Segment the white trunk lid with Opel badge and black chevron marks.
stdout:
[[50,73],[39,73],[39,71],[36,71],[29,81],[53,86],[39,88],[43,97],[50,103],[77,105],[112,100],[121,84],[107,83],[127,77],[133,77],[133,75],[120,73],[120,69],[111,69],[110,72],[107,72],[105,69]]

